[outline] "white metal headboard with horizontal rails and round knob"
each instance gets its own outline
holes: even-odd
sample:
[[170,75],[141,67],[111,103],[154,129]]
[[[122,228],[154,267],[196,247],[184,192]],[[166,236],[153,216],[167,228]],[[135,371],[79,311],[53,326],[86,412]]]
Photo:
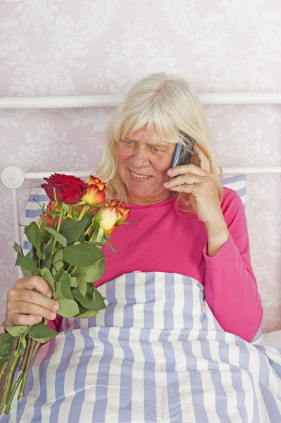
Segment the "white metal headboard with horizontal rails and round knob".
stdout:
[[[64,97],[0,97],[0,109],[68,109],[85,107],[117,106],[123,95],[96,95],[96,96],[64,96]],[[199,93],[201,104],[281,104],[281,92],[229,92],[229,93]],[[13,196],[13,221],[15,242],[21,245],[20,226],[18,225],[18,192],[25,179],[42,179],[51,173],[60,173],[57,169],[49,172],[24,173],[17,166],[7,166],[1,172],[1,182],[11,188]],[[89,171],[62,173],[87,178]],[[224,175],[256,173],[281,173],[281,166],[275,167],[228,167],[223,168]],[[22,277],[20,268],[19,276]]]

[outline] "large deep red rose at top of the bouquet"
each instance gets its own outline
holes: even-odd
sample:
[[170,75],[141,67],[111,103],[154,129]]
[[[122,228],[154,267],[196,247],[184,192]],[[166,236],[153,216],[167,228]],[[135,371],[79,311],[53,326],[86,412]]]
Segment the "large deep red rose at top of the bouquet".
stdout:
[[75,176],[54,173],[44,180],[47,183],[43,183],[41,186],[49,199],[55,200],[54,191],[56,191],[56,199],[65,204],[76,204],[87,191],[87,183]]

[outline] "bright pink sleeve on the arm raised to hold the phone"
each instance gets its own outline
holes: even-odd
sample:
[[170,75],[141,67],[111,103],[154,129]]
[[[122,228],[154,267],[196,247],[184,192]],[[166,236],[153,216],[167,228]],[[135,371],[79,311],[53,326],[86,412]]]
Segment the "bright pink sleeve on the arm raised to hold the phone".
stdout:
[[222,204],[230,237],[206,260],[205,296],[218,323],[226,332],[250,342],[261,326],[263,309],[251,267],[249,235],[242,201],[227,189]]

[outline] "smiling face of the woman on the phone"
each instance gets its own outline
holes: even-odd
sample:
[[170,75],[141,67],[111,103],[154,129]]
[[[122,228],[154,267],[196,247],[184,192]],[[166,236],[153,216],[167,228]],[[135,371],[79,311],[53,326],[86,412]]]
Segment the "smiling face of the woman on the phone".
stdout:
[[175,144],[155,141],[145,129],[123,142],[118,142],[118,171],[131,204],[156,204],[170,197],[163,184],[169,180],[167,171],[173,161]]

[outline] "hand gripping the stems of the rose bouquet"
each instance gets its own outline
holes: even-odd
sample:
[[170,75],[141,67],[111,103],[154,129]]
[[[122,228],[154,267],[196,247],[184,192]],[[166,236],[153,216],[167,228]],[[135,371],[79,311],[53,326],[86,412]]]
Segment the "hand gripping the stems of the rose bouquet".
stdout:
[[30,326],[37,324],[42,318],[54,320],[59,305],[51,299],[51,295],[48,283],[41,276],[18,279],[13,288],[8,290],[6,325]]

